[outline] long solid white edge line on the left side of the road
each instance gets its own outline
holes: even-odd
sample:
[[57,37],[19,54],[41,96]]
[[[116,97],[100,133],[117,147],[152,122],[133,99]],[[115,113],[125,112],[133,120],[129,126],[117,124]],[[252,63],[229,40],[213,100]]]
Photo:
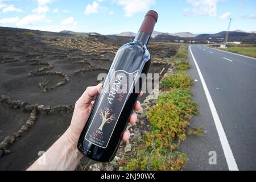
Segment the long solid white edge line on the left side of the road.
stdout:
[[214,120],[216,129],[217,129],[218,137],[220,138],[222,150],[224,151],[224,155],[226,158],[226,163],[228,164],[228,168],[230,171],[238,171],[237,163],[236,163],[236,160],[234,159],[233,152],[229,146],[228,138],[226,138],[225,131],[224,131],[221,121],[220,121],[220,117],[218,117],[216,107],[214,106],[212,97],[210,96],[209,90],[207,88],[207,84],[204,81],[204,77],[200,71],[199,65],[197,64],[196,59],[192,53],[191,46],[189,46],[189,50],[191,52],[193,61],[196,65],[197,72],[199,74],[200,80],[201,80],[203,88],[204,88],[205,95],[207,97],[207,101],[208,101],[210,111],[212,113],[213,120]]

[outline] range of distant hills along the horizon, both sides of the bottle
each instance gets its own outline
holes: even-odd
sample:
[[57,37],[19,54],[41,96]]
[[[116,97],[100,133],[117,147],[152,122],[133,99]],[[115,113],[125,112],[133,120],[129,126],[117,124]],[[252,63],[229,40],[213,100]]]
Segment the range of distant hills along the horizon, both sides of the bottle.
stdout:
[[[105,40],[105,39],[111,39],[112,42],[116,43],[126,43],[130,42],[134,39],[134,36],[136,35],[133,32],[128,32],[127,34],[118,34],[118,35],[101,35],[95,32],[89,32],[89,33],[82,33],[82,32],[73,32],[73,31],[61,31],[61,32],[47,32],[47,31],[39,31],[39,30],[28,30],[28,29],[20,29],[20,28],[10,28],[10,27],[0,27],[0,31],[19,31],[19,32],[32,32],[36,35],[49,35],[49,36],[56,36],[60,34],[65,34],[65,36],[86,36],[89,39],[93,40]],[[216,42],[221,43],[224,41],[226,31],[218,32],[217,34],[200,34],[195,37],[193,37],[194,34],[191,34],[190,32],[180,32],[175,34],[170,33],[162,33],[159,31],[154,31],[152,34],[153,41],[167,41],[167,42],[196,42],[196,43],[207,43],[208,40],[210,42]],[[244,32],[240,30],[236,31],[230,31],[229,32],[229,42],[242,42],[242,43],[251,43],[256,44],[256,31]]]

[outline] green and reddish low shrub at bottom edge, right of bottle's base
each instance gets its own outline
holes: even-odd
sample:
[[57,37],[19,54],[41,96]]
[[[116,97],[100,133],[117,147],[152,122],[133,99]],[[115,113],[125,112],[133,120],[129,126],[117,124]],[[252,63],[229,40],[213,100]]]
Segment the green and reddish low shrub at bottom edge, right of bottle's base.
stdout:
[[187,162],[187,155],[173,151],[175,147],[163,138],[159,130],[145,133],[143,140],[146,144],[137,146],[133,159],[124,163],[122,170],[181,170]]

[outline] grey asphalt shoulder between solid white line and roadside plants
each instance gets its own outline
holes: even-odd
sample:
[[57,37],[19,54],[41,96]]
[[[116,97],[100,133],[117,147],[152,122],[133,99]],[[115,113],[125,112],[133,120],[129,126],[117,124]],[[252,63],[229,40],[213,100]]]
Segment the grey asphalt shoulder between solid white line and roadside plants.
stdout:
[[[192,126],[203,125],[204,136],[188,136],[181,144],[181,152],[186,153],[189,159],[184,170],[228,170],[228,165],[226,163],[224,152],[222,151],[220,139],[218,138],[203,85],[201,84],[190,51],[189,63],[191,64],[191,69],[188,70],[189,75],[194,80],[197,80],[192,86],[192,100],[197,102],[200,110],[200,114],[194,116],[190,123]],[[214,152],[216,152],[217,156],[216,164],[209,164],[209,159]]]

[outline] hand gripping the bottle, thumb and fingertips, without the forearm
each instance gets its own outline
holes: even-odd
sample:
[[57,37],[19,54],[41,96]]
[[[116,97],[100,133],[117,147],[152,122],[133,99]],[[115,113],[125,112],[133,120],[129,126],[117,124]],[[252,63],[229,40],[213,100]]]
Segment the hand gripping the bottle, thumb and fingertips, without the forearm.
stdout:
[[[77,143],[77,141],[79,140],[82,129],[84,129],[85,123],[89,117],[90,110],[92,109],[94,103],[93,98],[98,95],[101,88],[102,84],[98,84],[97,86],[89,86],[88,88],[86,88],[85,92],[82,94],[79,100],[76,101],[71,125],[68,129],[68,135],[75,143]],[[141,96],[142,93],[140,93],[140,97]],[[141,110],[141,103],[139,101],[137,101],[137,103],[135,104],[134,110]],[[136,119],[137,115],[133,113],[130,117],[129,122],[131,124],[134,124]],[[123,142],[127,142],[129,140],[129,137],[130,132],[126,130],[122,137]]]

